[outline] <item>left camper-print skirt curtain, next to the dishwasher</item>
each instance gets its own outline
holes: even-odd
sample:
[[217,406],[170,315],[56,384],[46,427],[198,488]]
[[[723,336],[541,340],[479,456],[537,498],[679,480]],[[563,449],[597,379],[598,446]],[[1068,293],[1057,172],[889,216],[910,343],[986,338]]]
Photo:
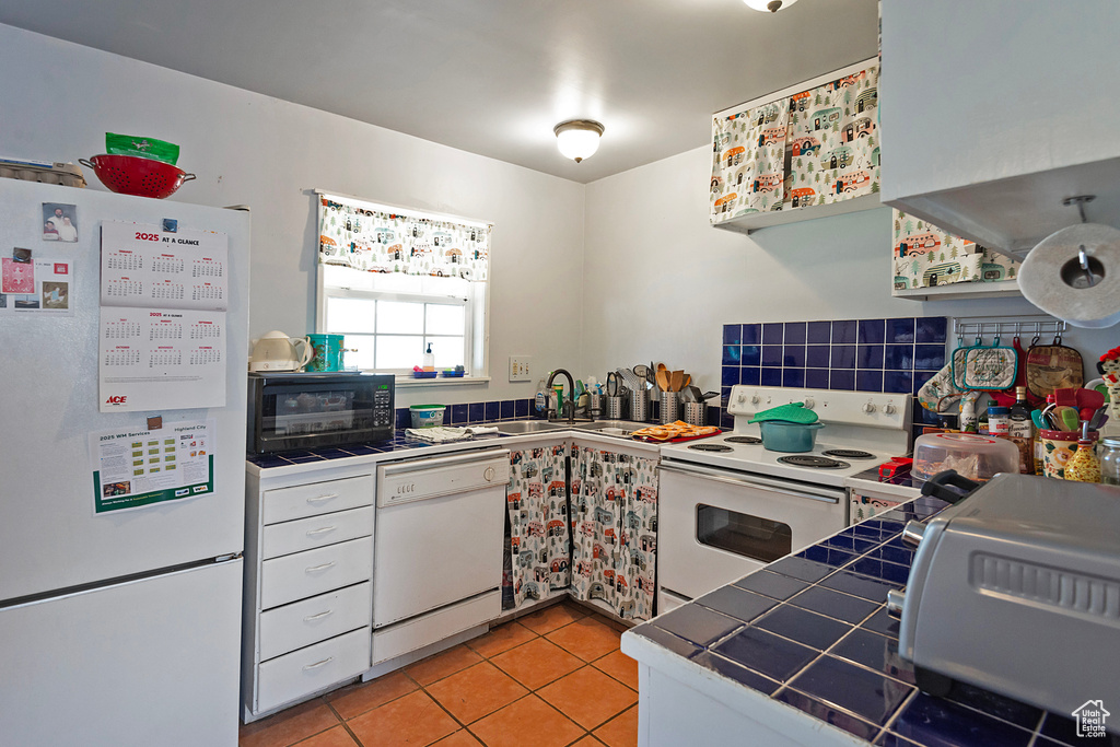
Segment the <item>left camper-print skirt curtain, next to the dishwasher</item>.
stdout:
[[567,459],[567,445],[510,452],[506,580],[515,607],[568,588]]

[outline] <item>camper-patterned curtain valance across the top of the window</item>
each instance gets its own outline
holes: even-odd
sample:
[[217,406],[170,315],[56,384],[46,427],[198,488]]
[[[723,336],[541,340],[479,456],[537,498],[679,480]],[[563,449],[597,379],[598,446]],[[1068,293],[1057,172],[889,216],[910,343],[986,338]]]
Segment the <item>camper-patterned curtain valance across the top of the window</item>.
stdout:
[[319,195],[319,262],[485,282],[488,223]]

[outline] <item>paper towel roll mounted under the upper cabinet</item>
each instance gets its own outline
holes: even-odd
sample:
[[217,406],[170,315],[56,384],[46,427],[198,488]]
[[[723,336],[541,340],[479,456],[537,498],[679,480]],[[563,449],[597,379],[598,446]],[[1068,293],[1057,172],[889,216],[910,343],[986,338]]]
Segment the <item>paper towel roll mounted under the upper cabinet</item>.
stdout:
[[[1092,286],[1081,267],[1082,246],[1095,279]],[[1111,327],[1120,321],[1120,231],[1082,223],[1052,233],[1023,261],[1019,290],[1074,327]]]

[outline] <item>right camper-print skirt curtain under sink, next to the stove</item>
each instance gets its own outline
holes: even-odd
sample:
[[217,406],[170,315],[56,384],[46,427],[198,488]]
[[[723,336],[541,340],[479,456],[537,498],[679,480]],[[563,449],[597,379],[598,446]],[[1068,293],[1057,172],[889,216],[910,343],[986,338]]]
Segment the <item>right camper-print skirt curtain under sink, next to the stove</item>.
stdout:
[[573,447],[571,592],[623,618],[653,617],[657,463]]

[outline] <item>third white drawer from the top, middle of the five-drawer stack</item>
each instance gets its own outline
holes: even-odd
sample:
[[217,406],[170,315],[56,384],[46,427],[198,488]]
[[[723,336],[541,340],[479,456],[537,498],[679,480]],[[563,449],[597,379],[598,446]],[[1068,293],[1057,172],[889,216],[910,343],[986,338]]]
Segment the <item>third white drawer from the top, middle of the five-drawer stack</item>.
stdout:
[[261,563],[261,609],[373,579],[373,538],[273,558]]

